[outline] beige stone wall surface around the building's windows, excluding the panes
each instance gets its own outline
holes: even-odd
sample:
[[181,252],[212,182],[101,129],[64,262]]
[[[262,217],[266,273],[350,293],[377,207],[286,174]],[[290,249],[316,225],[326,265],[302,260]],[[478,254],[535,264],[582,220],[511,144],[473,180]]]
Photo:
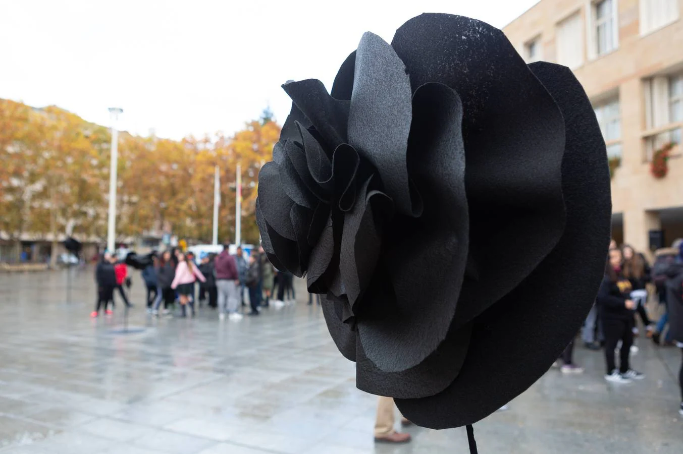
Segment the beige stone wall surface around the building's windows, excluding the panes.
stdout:
[[[681,3],[683,0],[679,8]],[[543,59],[554,61],[555,25],[581,10],[585,32],[589,5],[588,0],[541,0],[503,31],[520,52],[525,42],[541,35]],[[669,160],[669,175],[656,180],[650,175],[650,164],[645,162],[642,137],[646,126],[643,79],[671,68],[683,68],[683,12],[679,16],[675,23],[640,36],[639,0],[619,0],[619,47],[588,61],[584,33],[585,62],[574,70],[591,100],[619,91],[622,165],[612,180],[613,212],[624,215],[624,241],[641,250],[647,249],[647,231],[660,228],[657,210],[683,206],[683,156]],[[682,153],[680,145],[673,150],[673,154]]]

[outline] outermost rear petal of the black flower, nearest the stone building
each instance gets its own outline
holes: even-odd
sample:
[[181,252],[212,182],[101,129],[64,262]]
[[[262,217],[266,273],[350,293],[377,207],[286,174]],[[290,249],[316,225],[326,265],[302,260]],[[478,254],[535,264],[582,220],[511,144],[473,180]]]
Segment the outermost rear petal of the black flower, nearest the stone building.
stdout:
[[598,122],[568,68],[553,63],[533,63],[530,68],[565,119],[566,227],[542,264],[475,319],[469,352],[453,384],[432,397],[396,400],[404,416],[423,427],[475,423],[529,388],[576,335],[602,280],[611,195]]

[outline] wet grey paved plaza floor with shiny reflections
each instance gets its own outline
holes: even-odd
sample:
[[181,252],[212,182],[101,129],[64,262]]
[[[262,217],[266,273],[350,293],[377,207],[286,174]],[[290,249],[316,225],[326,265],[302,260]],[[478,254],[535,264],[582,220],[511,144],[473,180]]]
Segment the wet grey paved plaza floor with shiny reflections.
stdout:
[[[157,320],[135,274],[128,333],[120,306],[89,319],[92,270],[74,270],[68,302],[66,272],[0,274],[0,454],[468,452],[464,429],[375,445],[376,397],[355,388],[303,287],[295,306],[240,322]],[[637,344],[645,380],[607,384],[602,353],[577,347],[586,373],[548,371],[477,423],[479,452],[683,453],[680,352]]]

